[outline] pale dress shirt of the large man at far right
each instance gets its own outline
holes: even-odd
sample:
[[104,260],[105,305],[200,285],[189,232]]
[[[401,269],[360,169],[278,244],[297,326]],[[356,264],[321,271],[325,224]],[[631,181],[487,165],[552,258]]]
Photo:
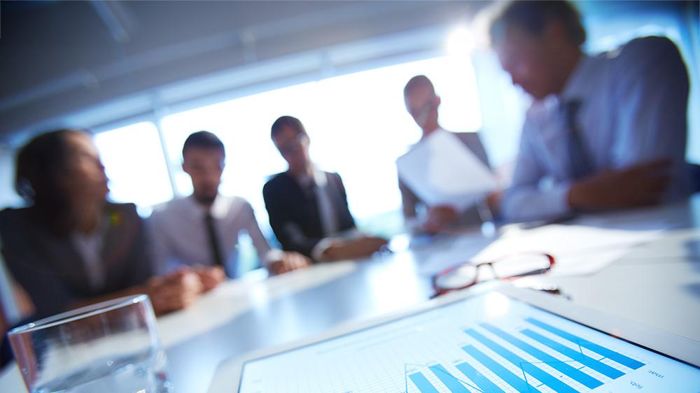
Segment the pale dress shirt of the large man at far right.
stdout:
[[639,38],[613,52],[582,55],[563,92],[533,102],[527,111],[512,185],[501,201],[503,217],[524,221],[571,213],[571,130],[561,115],[570,100],[581,103],[575,122],[593,173],[670,159],[667,198],[688,194],[687,97],[685,65],[666,38]]

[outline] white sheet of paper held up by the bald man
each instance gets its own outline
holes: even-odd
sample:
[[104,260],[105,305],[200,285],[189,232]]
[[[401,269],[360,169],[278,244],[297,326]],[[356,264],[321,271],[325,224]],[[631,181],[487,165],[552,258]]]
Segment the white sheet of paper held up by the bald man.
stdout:
[[401,180],[428,206],[465,210],[496,189],[491,170],[449,131],[416,143],[396,166]]

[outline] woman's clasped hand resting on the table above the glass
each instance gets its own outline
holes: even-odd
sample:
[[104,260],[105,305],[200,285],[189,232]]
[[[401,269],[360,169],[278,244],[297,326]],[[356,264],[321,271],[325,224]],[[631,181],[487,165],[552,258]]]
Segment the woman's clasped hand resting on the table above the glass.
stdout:
[[204,289],[200,276],[192,269],[181,269],[165,277],[154,277],[146,283],[156,315],[187,308]]

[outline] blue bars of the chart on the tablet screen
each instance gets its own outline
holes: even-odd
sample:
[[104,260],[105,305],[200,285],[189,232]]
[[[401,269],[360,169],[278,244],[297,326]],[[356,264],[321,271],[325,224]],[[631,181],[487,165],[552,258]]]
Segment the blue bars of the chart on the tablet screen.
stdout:
[[[421,393],[444,391],[441,385],[452,393],[544,390],[575,393],[601,387],[610,380],[645,366],[638,359],[535,318],[527,318],[524,322],[531,324],[531,327],[520,329],[518,335],[489,323],[465,329],[464,333],[473,339],[474,344],[461,347],[470,361],[454,364],[458,373],[447,371],[442,364],[433,364],[427,366],[426,371],[407,372],[407,385],[410,380]],[[486,336],[486,332],[491,334],[491,338]],[[554,337],[545,336],[544,332]],[[530,339],[529,343],[527,338]],[[492,354],[479,349],[479,346],[488,348]],[[508,363],[510,367],[505,366]],[[421,368],[417,364],[407,366],[412,366],[413,370]],[[441,385],[430,383],[424,373],[432,374]]]

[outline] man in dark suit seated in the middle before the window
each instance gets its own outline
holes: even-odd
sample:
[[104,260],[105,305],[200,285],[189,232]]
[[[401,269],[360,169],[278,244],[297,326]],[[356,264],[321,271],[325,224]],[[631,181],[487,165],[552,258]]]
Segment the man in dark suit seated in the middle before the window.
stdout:
[[311,163],[302,122],[279,117],[272,124],[272,141],[289,168],[265,184],[262,196],[284,250],[330,261],[365,257],[386,244],[382,238],[358,234],[340,176]]

